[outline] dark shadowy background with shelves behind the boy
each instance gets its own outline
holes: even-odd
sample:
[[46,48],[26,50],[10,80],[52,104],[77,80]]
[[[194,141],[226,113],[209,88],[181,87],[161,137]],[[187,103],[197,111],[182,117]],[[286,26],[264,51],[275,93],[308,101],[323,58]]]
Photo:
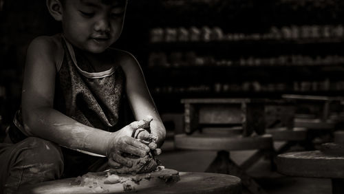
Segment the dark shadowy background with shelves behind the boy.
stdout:
[[[7,123],[20,105],[28,44],[60,27],[48,14],[45,0],[0,2],[0,115]],[[125,28],[114,47],[138,58],[160,113],[181,113],[181,98],[341,96],[343,8],[339,0],[129,0]],[[230,38],[205,41],[201,34],[199,41],[169,41],[166,37],[167,28],[191,26],[201,33],[205,27],[221,28]],[[318,34],[305,32],[314,26]],[[150,33],[157,28],[164,32],[162,40],[152,43]],[[297,29],[297,36],[290,37],[288,29]],[[263,38],[264,34],[273,36]],[[279,61],[280,56],[285,58]],[[294,63],[292,56],[307,56],[312,63],[305,58]],[[275,59],[252,64],[252,58]]]

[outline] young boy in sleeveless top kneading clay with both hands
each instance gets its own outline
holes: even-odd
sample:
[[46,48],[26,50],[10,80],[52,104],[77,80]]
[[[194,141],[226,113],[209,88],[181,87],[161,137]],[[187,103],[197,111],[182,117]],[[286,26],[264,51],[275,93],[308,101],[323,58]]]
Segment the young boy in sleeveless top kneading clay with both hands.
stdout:
[[[136,58],[109,48],[120,36],[126,0],[47,0],[62,34],[30,43],[22,107],[8,144],[0,144],[0,193],[87,173],[96,156],[113,168],[133,166],[122,153],[159,152],[165,129]],[[127,96],[136,122],[118,129],[120,99]],[[149,128],[156,144],[133,138]],[[83,152],[83,153],[81,153]]]

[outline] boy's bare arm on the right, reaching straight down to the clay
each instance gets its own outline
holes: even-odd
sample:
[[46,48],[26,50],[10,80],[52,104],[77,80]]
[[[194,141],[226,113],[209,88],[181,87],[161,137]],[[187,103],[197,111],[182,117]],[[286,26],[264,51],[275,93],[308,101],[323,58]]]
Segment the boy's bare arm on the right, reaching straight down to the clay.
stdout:
[[131,54],[125,52],[121,60],[122,69],[126,75],[126,89],[131,109],[136,120],[141,120],[147,115],[153,117],[151,121],[151,132],[158,136],[158,147],[162,145],[166,136],[166,129],[162,124],[162,120],[155,107],[146,81],[142,73],[142,69],[136,61],[136,58]]

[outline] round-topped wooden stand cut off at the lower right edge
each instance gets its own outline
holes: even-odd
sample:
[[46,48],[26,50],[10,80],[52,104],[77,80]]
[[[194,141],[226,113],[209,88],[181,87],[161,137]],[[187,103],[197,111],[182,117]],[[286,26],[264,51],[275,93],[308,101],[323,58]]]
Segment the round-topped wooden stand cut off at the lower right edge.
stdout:
[[277,171],[284,175],[332,180],[332,193],[344,193],[344,157],[321,151],[283,153],[277,156]]

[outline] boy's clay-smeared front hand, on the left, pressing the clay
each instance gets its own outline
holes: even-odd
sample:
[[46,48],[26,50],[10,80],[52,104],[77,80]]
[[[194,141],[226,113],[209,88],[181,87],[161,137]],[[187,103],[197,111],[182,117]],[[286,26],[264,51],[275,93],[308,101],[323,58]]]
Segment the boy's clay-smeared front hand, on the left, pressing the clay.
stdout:
[[106,155],[109,159],[109,166],[118,168],[120,166],[131,167],[133,165],[133,158],[124,157],[123,154],[137,155],[143,158],[149,153],[149,147],[140,142],[140,140],[131,137],[133,132],[137,129],[144,129],[149,127],[151,116],[127,125],[111,134],[109,142],[107,143]]

